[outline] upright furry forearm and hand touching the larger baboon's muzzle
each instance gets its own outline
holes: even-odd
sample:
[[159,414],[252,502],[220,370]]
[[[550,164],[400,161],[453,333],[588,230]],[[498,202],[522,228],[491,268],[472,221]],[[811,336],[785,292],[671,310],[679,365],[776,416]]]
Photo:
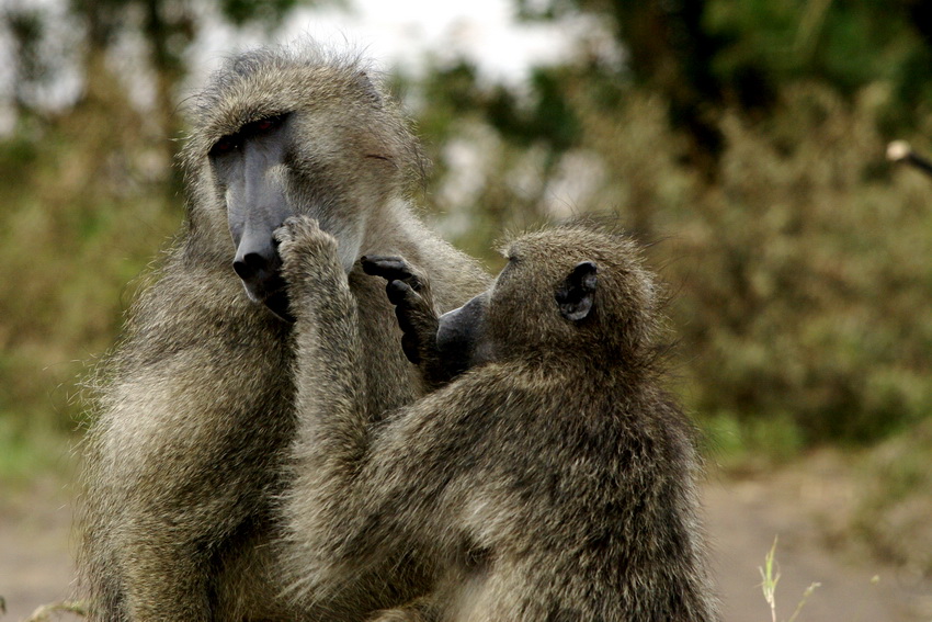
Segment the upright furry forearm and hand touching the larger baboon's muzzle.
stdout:
[[377,414],[366,411],[359,310],[336,240],[306,217],[288,218],[276,237],[295,318],[298,437],[284,511],[302,574],[291,580],[320,599],[352,590],[382,561],[360,553],[349,565],[356,556],[338,554],[365,521],[356,482]]

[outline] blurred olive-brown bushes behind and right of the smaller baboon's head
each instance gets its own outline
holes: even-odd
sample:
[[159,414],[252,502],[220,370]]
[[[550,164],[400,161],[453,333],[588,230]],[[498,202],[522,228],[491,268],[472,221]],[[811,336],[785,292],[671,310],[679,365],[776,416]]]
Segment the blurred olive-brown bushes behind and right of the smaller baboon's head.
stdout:
[[[660,240],[649,252],[673,287],[677,367],[700,414],[789,420],[805,445],[871,441],[932,412],[932,183],[884,161],[884,84],[853,100],[819,82],[787,87],[763,121],[724,110],[714,184],[683,165],[656,94],[606,110],[586,79],[565,87],[581,135],[556,163],[546,143],[515,149],[481,118],[457,120],[481,157],[462,171],[448,142],[434,154],[441,227],[455,235],[450,223],[470,208],[501,230],[612,207]],[[561,203],[579,169],[588,188]],[[442,204],[476,174],[478,190]],[[475,252],[488,248],[479,227],[458,238]]]

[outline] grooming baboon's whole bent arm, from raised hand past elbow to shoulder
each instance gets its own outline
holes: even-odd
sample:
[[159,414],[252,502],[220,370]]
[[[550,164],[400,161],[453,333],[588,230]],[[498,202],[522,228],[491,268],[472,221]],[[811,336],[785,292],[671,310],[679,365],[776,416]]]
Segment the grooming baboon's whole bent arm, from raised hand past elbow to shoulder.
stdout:
[[475,386],[455,384],[395,412],[368,412],[359,312],[336,240],[303,217],[276,235],[295,317],[299,418],[285,511],[304,573],[295,580],[320,597],[439,545],[437,524],[465,494],[451,483],[471,464],[461,454],[474,451],[458,446],[448,419],[481,429],[488,412],[464,408],[462,391]]

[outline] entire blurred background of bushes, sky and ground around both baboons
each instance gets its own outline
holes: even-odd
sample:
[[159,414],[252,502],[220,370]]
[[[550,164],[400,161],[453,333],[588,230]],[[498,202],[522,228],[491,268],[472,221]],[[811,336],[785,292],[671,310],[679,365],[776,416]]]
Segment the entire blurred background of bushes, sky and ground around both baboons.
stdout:
[[[468,4],[468,5],[466,5]],[[932,620],[928,0],[0,1],[0,597],[68,593],[82,389],[183,217],[184,100],[220,59],[364,48],[500,260],[593,211],[671,285],[727,620]]]

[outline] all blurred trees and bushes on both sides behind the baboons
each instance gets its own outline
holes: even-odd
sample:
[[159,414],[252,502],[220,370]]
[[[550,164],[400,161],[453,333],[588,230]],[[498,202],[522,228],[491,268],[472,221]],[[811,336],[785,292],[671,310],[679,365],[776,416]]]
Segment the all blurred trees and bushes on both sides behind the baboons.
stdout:
[[[293,4],[216,10],[271,27]],[[616,213],[671,284],[677,387],[719,445],[791,455],[925,425],[932,181],[884,149],[930,148],[928,3],[516,4],[528,19],[584,13],[621,52],[584,38],[522,84],[468,59],[399,78],[434,161],[435,226],[495,268],[507,230]],[[204,7],[75,0],[82,90],[54,112],[35,97],[60,75],[43,56],[47,15],[3,16],[18,76],[0,137],[3,438],[80,420],[76,378],[179,227],[171,138]],[[126,33],[146,42],[149,109],[107,63]]]

